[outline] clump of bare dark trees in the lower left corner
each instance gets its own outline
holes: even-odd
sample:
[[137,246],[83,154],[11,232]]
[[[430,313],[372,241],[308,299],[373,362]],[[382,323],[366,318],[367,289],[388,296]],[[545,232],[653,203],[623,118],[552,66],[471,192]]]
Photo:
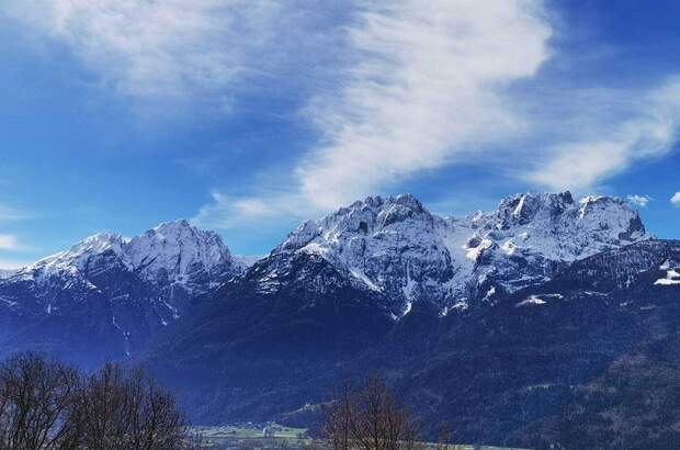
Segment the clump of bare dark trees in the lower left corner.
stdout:
[[173,395],[141,369],[86,375],[39,353],[0,365],[0,450],[188,448]]

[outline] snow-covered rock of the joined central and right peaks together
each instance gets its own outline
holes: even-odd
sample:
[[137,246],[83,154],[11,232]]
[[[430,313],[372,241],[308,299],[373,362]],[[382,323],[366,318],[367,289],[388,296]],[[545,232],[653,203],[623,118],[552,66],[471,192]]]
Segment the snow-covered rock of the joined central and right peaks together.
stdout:
[[498,211],[439,217],[413,196],[367,198],[305,222],[272,255],[315,254],[353,283],[393,299],[395,318],[415,301],[442,314],[546,281],[565,265],[648,239],[622,200],[518,194]]

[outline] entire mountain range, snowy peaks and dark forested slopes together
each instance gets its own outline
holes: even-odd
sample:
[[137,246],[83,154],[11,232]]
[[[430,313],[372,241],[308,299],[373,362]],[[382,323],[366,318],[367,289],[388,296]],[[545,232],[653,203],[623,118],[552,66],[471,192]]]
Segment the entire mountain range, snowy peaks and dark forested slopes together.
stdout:
[[620,199],[525,193],[455,218],[401,194],[307,221],[252,265],[186,221],[92,236],[0,277],[0,352],[143,361],[203,424],[309,425],[378,371],[426,431],[636,448],[680,432],[678,301],[680,243]]

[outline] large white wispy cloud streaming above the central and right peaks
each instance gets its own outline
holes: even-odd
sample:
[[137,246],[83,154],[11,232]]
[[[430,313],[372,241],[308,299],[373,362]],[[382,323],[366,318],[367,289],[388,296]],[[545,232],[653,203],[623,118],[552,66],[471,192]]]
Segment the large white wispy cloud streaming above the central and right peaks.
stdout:
[[313,97],[305,111],[320,137],[298,157],[290,188],[223,195],[203,207],[203,220],[209,212],[230,224],[309,216],[461,162],[492,167],[528,188],[587,191],[670,153],[680,125],[673,74],[619,90],[547,77],[533,86],[544,91],[512,91],[565,57],[552,48],[544,7],[531,0],[359,7],[344,29],[349,56],[337,87]]

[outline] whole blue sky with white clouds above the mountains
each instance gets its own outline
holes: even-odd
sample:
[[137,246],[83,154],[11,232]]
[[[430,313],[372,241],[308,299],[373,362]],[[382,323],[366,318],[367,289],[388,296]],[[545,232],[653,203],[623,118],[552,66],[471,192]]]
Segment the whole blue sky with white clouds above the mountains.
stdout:
[[[264,254],[369,194],[631,196],[679,237],[677,1],[5,0],[0,267],[189,217]],[[680,195],[678,195],[680,196]]]

